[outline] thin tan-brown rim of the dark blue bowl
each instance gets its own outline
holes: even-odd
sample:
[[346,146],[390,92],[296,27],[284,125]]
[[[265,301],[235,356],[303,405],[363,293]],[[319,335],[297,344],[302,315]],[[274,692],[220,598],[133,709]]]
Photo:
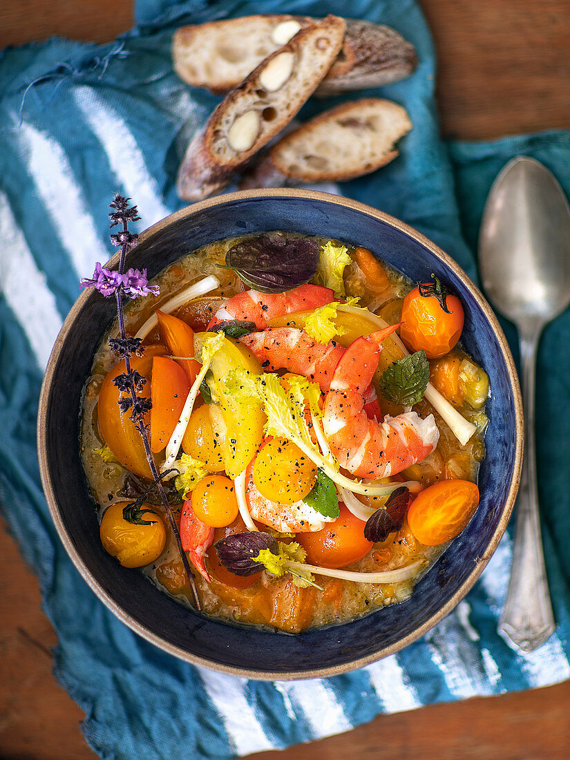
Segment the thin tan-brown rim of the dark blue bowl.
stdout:
[[[451,256],[440,249],[438,245],[435,245],[435,243],[432,242],[429,238],[415,230],[412,226],[402,222],[396,217],[392,217],[390,214],[386,214],[384,211],[378,211],[378,209],[361,203],[360,201],[355,201],[352,198],[346,198],[342,195],[333,195],[331,193],[321,192],[317,190],[306,190],[301,188],[264,188],[236,191],[226,193],[225,195],[217,195],[214,196],[214,198],[207,198],[204,201],[198,201],[197,203],[184,207],[179,211],[175,211],[173,214],[169,214],[168,217],[159,220],[157,223],[153,224],[142,233],[140,233],[138,242],[147,240],[151,236],[154,236],[156,233],[159,233],[166,226],[176,223],[180,219],[184,219],[185,217],[193,216],[196,214],[201,214],[202,211],[213,206],[233,203],[234,201],[239,201],[241,199],[252,198],[275,198],[277,200],[300,198],[306,201],[326,201],[328,204],[332,204],[333,206],[350,207],[353,211],[356,211],[359,214],[364,214],[367,217],[372,217],[375,220],[382,221],[383,223],[394,227],[395,229],[404,233],[404,235],[409,236],[410,238],[416,240],[416,242],[419,242],[421,245],[429,249],[430,252],[438,256],[444,262],[444,264],[446,264],[451,269],[451,271],[453,271],[454,274],[456,274],[461,279],[461,281],[467,287],[467,290],[470,291],[471,296],[473,296],[473,298],[476,300],[478,306],[480,306],[480,309],[485,314],[490,325],[492,326],[492,330],[496,334],[496,339],[499,343],[503,359],[505,360],[505,367],[508,373],[508,381],[513,391],[513,406],[515,409],[515,461],[511,474],[511,482],[508,486],[505,507],[502,510],[502,515],[499,518],[499,523],[497,524],[496,530],[492,534],[489,544],[486,546],[485,553],[477,560],[470,574],[461,584],[461,587],[455,591],[453,596],[448,600],[447,603],[445,603],[444,606],[442,606],[440,610],[429,617],[426,622],[423,622],[423,624],[420,625],[420,627],[415,631],[397,641],[397,643],[386,646],[385,648],[382,648],[375,652],[375,654],[369,654],[366,657],[359,657],[356,660],[350,660],[350,662],[334,665],[331,667],[303,670],[302,673],[296,671],[258,671],[250,670],[248,668],[229,666],[223,663],[216,663],[212,660],[208,660],[205,657],[199,657],[195,654],[191,654],[179,646],[170,644],[169,641],[166,641],[166,639],[164,639],[162,636],[157,635],[148,629],[146,625],[138,622],[138,620],[126,612],[122,606],[116,603],[116,601],[112,598],[112,595],[106,591],[106,589],[99,583],[99,581],[93,577],[93,575],[91,575],[89,569],[87,568],[87,565],[85,565],[84,560],[81,558],[80,553],[77,549],[75,549],[75,546],[71,541],[71,537],[65,529],[62,515],[59,512],[59,505],[55,499],[52,477],[49,472],[46,440],[46,422],[48,412],[47,402],[49,400],[52,384],[55,380],[55,366],[58,362],[59,354],[62,351],[65,340],[67,339],[71,329],[74,327],[75,320],[78,316],[78,313],[81,312],[81,309],[84,306],[84,302],[93,296],[93,293],[90,293],[87,290],[85,290],[84,293],[81,293],[78,299],[74,302],[74,305],[71,307],[67,317],[65,318],[62,329],[59,331],[59,335],[56,338],[55,344],[52,348],[52,353],[49,356],[46,373],[43,378],[37,419],[37,448],[40,464],[40,477],[52,521],[55,525],[55,529],[59,534],[59,538],[62,540],[65,550],[68,553],[68,556],[71,558],[71,561],[78,569],[81,577],[84,578],[84,581],[86,581],[87,585],[94,592],[94,594],[96,594],[96,596],[103,602],[103,604],[105,604],[105,606],[117,618],[119,618],[119,620],[125,623],[125,625],[127,625],[128,628],[130,628],[132,631],[142,636],[142,638],[146,639],[147,641],[150,641],[151,644],[154,644],[161,650],[166,651],[168,654],[172,654],[181,660],[185,660],[185,662],[200,667],[206,667],[211,670],[216,670],[220,673],[226,673],[232,676],[239,676],[242,678],[262,681],[287,681],[293,679],[325,678],[329,676],[337,676],[341,673],[347,673],[351,670],[356,670],[358,668],[374,663],[377,660],[381,660],[383,657],[388,657],[388,655],[394,654],[397,651],[401,651],[401,649],[404,649],[409,644],[412,644],[413,641],[421,638],[426,632],[432,629],[434,625],[436,625],[440,620],[451,613],[451,610],[453,610],[454,607],[458,605],[458,603],[464,598],[467,592],[470,591],[470,588],[473,587],[473,584],[475,581],[477,581],[477,578],[479,578],[483,572],[483,569],[489,562],[489,559],[491,559],[492,554],[495,552],[495,549],[499,544],[499,540],[501,540],[502,534],[505,532],[509,518],[511,517],[511,512],[515,505],[518,485],[521,480],[522,455],[524,446],[524,422],[521,389],[518,381],[518,374],[515,369],[515,362],[511,355],[511,350],[508,347],[505,334],[499,325],[499,321],[497,320],[496,315],[489,306],[489,303],[486,302],[483,293],[481,293],[479,288],[475,285],[475,283],[473,283],[473,280],[467,276],[467,274],[463,271],[459,264],[457,264],[456,261],[451,258]],[[112,256],[112,258],[109,259],[109,266],[113,266],[119,261],[119,255],[119,253],[116,253]]]

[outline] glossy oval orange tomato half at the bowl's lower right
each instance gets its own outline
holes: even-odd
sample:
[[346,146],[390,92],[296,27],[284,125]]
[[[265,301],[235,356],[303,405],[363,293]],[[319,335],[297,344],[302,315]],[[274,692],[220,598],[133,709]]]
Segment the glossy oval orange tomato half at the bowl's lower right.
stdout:
[[420,492],[407,511],[414,537],[424,546],[455,538],[475,514],[479,489],[470,480],[440,480]]

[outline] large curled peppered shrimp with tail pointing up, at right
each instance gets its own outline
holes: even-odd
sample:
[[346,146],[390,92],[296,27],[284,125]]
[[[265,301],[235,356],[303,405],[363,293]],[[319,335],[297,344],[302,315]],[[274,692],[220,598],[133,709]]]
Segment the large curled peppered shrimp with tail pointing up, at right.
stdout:
[[363,391],[378,367],[379,330],[359,337],[347,348],[334,370],[325,399],[323,429],[340,467],[357,477],[388,477],[422,461],[434,451],[439,430],[433,415],[423,420],[416,412],[386,416],[383,423],[369,420]]

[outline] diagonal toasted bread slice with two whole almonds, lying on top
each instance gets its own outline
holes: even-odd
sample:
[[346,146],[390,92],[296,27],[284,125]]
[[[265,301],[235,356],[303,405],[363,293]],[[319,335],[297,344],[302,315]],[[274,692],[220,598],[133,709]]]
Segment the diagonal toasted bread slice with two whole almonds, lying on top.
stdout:
[[331,68],[344,30],[337,16],[310,24],[226,96],[188,145],[178,173],[181,198],[198,201],[225,187],[293,119]]

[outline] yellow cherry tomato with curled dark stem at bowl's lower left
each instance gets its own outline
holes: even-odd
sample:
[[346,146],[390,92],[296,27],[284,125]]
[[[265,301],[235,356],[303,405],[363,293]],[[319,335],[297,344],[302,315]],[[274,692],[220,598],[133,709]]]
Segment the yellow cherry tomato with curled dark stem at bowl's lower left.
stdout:
[[160,515],[145,504],[134,515],[135,522],[125,520],[123,509],[129,503],[116,502],[106,509],[100,525],[101,543],[123,567],[140,568],[163,553],[166,530]]

